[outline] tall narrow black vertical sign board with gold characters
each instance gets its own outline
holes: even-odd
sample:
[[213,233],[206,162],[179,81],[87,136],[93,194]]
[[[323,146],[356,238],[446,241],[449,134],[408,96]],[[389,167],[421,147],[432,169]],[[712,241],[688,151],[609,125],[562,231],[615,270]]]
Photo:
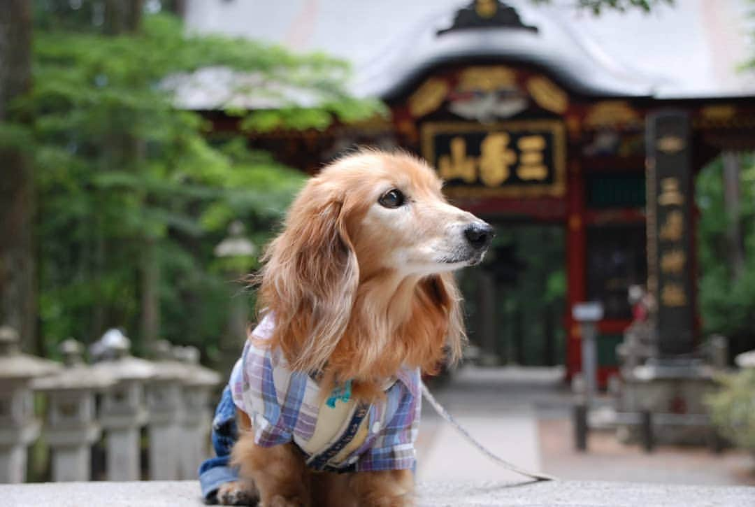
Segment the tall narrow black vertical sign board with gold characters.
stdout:
[[648,288],[656,301],[658,351],[670,357],[695,347],[692,271],[692,164],[689,117],[661,111],[648,117]]

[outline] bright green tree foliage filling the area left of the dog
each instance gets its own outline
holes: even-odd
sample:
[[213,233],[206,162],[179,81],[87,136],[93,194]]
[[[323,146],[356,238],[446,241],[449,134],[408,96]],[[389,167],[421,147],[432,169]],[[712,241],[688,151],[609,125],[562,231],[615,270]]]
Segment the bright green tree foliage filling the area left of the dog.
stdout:
[[[167,14],[107,36],[97,3],[37,2],[34,86],[15,104],[32,125],[0,125],[0,144],[28,148],[36,168],[41,332],[49,352],[68,336],[91,342],[123,326],[138,350],[149,248],[161,274],[162,336],[212,355],[239,267],[215,258],[214,246],[240,219],[260,248],[303,175],[244,138],[211,134],[199,113],[175,107],[168,84],[205,68],[254,76],[254,88],[238,92],[273,97],[279,110],[242,118],[248,129],[324,128],[377,105],[347,94],[340,60],[187,34]],[[302,108],[292,89],[314,100]]]

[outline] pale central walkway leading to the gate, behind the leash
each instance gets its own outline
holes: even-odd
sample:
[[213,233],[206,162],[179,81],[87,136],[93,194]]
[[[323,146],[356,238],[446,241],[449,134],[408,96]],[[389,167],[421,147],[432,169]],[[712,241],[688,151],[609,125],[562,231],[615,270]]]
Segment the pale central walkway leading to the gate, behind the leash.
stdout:
[[[438,400],[478,440],[507,461],[541,468],[536,412],[565,407],[558,369],[478,369],[467,366],[449,385],[433,388]],[[549,408],[550,407],[550,408]],[[420,481],[520,481],[492,464],[455,428],[424,404],[418,439]],[[565,410],[565,409],[562,409]],[[462,463],[463,466],[459,466]]]

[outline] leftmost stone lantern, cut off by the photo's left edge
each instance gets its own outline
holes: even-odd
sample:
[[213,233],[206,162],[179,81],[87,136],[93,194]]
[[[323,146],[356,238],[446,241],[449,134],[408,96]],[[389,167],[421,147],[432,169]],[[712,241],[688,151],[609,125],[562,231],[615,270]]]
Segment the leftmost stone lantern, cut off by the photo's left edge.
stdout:
[[0,326],[0,483],[26,480],[26,446],[40,428],[31,382],[60,369],[58,363],[21,354],[18,343],[15,329]]

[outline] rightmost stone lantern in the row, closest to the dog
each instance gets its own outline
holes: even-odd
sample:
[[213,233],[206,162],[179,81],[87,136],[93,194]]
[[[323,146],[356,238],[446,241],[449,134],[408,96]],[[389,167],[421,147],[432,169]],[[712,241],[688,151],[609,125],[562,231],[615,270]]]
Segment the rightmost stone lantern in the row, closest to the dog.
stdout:
[[220,374],[199,364],[196,347],[174,347],[173,355],[189,368],[183,381],[183,442],[180,446],[180,478],[196,478],[199,465],[208,456],[210,396],[220,383]]

